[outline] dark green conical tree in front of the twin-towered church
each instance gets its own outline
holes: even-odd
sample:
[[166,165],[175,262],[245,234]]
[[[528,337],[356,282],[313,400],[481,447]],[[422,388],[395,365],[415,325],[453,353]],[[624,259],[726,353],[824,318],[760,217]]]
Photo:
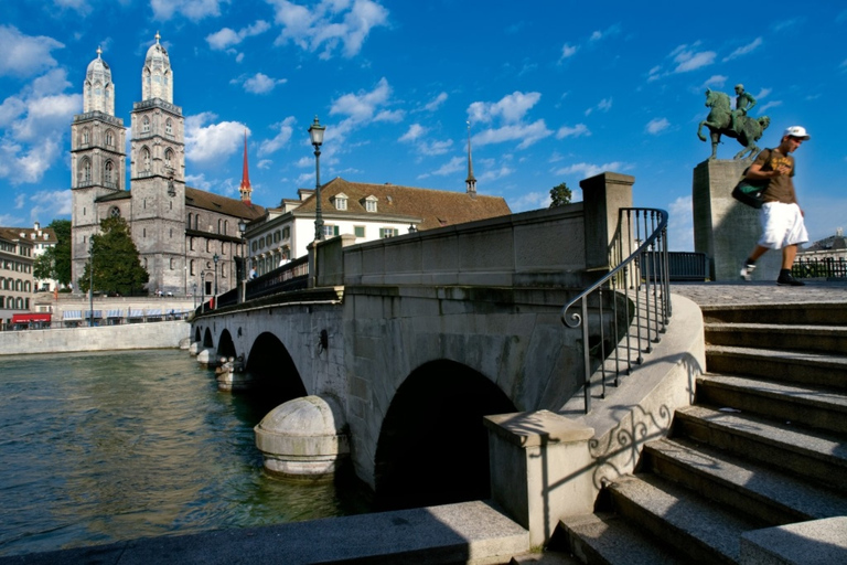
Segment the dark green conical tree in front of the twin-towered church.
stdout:
[[[94,288],[103,292],[132,295],[150,280],[141,266],[138,248],[129,235],[122,217],[107,217],[100,222],[100,234],[92,236],[94,250]],[[92,280],[92,259],[85,264],[79,289],[88,291]]]

